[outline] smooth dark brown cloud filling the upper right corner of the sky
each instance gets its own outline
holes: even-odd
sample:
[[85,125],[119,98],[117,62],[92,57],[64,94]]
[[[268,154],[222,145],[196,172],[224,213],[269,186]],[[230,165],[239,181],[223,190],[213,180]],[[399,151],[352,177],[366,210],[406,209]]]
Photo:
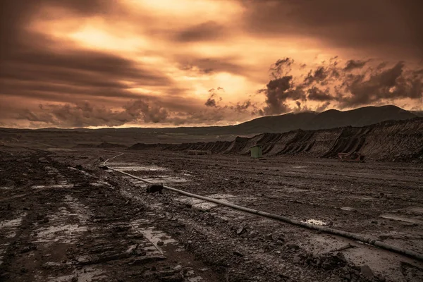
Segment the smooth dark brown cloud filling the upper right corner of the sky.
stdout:
[[423,56],[423,1],[240,0],[259,36],[314,37],[331,47]]

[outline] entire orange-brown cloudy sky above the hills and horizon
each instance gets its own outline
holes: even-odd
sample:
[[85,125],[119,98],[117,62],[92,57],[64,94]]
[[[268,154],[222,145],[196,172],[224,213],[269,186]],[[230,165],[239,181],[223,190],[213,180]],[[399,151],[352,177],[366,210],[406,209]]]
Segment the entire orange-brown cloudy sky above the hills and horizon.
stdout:
[[0,126],[423,109],[420,0],[0,1]]

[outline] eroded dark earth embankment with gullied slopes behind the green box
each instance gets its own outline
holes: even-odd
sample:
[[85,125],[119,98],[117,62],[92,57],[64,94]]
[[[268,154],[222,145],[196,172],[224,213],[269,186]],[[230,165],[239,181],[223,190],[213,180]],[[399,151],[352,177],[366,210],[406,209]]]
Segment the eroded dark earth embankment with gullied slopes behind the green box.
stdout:
[[386,121],[361,128],[351,126],[326,130],[293,130],[236,137],[232,142],[197,142],[178,145],[135,144],[129,149],[173,151],[207,150],[221,154],[248,154],[251,146],[263,145],[263,154],[336,157],[341,152],[360,152],[373,159],[423,161],[423,118]]

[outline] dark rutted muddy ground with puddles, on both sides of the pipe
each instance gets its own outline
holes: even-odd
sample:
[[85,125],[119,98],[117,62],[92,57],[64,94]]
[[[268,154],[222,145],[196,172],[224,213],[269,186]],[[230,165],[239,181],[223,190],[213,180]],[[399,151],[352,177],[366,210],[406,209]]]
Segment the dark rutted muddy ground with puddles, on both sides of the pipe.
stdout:
[[0,147],[0,281],[423,281],[423,262],[146,184],[423,252],[423,166]]

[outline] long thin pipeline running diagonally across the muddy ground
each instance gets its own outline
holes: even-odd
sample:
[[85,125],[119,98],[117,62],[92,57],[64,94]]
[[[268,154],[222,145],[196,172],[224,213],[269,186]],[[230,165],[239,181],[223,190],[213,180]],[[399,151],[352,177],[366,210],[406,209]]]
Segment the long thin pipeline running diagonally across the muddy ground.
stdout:
[[[125,176],[129,176],[131,178],[141,180],[142,182],[145,182],[145,183],[150,183],[150,184],[154,183],[154,182],[146,180],[144,178],[133,176],[130,173],[125,173],[124,171],[119,171],[118,169],[112,168],[110,166],[104,165],[104,167],[109,168],[112,171],[122,173]],[[270,214],[269,212],[262,212],[262,211],[259,211],[257,209],[250,209],[250,208],[247,208],[247,207],[238,206],[237,204],[221,202],[221,201],[213,199],[213,198],[192,194],[190,192],[185,192],[183,190],[179,190],[179,189],[176,189],[176,188],[171,188],[167,185],[163,185],[163,187],[166,188],[167,190],[171,190],[173,192],[177,192],[179,194],[182,194],[182,195],[185,195],[185,196],[188,196],[188,197],[194,197],[194,198],[204,200],[204,201],[207,201],[207,202],[214,202],[215,204],[220,204],[220,205],[223,205],[223,206],[226,206],[226,207],[231,207],[232,209],[238,209],[240,211],[247,212],[247,213],[250,213],[250,214],[257,214],[259,216],[264,216],[268,219],[275,219],[277,221],[283,221],[283,222],[290,223],[290,224],[293,224],[293,225],[296,225],[296,226],[302,226],[302,227],[305,227],[305,228],[308,228],[308,229],[313,229],[313,230],[321,231],[321,232],[324,232],[324,233],[329,233],[329,234],[338,235],[338,236],[341,236],[341,237],[344,237],[344,238],[357,240],[357,241],[362,242],[362,243],[373,245],[375,247],[380,247],[381,249],[384,249],[384,250],[396,252],[400,255],[405,255],[407,257],[412,257],[413,259],[419,259],[419,260],[423,261],[423,254],[419,254],[418,252],[413,252],[411,250],[405,250],[401,247],[389,245],[389,244],[386,244],[382,241],[379,241],[379,240],[376,240],[374,238],[370,238],[370,237],[367,237],[367,236],[364,236],[364,235],[350,233],[350,232],[346,232],[346,231],[341,231],[341,230],[338,230],[338,229],[333,229],[333,228],[329,228],[329,227],[325,227],[325,226],[317,226],[317,225],[314,225],[314,224],[298,221],[298,220],[295,220],[295,219],[290,219],[286,216],[280,216],[278,214]]]

